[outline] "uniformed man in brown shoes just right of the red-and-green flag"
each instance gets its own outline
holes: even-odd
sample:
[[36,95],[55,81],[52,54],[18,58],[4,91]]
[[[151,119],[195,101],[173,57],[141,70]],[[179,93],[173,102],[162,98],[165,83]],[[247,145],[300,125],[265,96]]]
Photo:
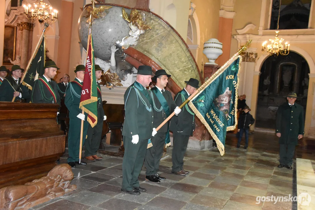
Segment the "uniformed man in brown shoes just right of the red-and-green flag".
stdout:
[[[102,69],[99,65],[95,65],[95,77],[99,80],[102,76]],[[100,85],[97,82],[97,124],[92,128],[89,124],[87,138],[84,143],[85,159],[90,161],[101,160],[102,157],[96,155],[98,148],[100,147],[100,141],[102,138],[103,121],[106,120],[102,104],[102,93],[100,91]]]

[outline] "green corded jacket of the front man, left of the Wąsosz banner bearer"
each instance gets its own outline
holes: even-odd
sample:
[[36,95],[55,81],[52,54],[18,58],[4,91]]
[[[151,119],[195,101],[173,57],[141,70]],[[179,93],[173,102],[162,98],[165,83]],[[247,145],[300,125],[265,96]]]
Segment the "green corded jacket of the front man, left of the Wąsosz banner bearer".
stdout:
[[[153,110],[151,102],[137,87],[144,88],[139,82],[134,82],[124,94],[125,120],[123,123],[123,136],[132,138],[139,135],[139,140],[151,139],[153,129]],[[150,96],[149,91],[144,88]]]

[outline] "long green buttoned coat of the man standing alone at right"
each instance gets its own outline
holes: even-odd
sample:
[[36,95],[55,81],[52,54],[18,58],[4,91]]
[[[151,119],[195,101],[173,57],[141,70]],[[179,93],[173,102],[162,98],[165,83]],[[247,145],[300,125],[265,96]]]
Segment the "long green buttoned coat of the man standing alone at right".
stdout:
[[304,109],[288,102],[280,105],[276,117],[276,133],[281,133],[279,144],[297,145],[298,135],[304,135]]

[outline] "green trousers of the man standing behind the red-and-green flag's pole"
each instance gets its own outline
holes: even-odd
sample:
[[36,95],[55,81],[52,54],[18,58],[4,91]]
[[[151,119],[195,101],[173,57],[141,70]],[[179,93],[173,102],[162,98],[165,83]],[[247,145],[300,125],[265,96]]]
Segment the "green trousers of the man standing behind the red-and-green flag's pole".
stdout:
[[[89,122],[87,120],[83,121],[82,148],[84,145],[88,127],[89,127]],[[70,122],[69,122],[69,133],[68,133],[69,157],[67,159],[67,162],[79,161],[80,131],[81,131],[81,120],[77,117],[71,117]]]

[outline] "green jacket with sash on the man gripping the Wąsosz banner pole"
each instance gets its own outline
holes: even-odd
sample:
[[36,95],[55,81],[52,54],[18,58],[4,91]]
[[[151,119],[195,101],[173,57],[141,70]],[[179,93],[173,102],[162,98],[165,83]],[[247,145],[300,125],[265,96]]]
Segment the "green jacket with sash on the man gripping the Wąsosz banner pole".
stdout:
[[[157,89],[157,91],[159,91],[159,90],[157,87],[154,87],[150,91],[151,98],[153,99],[153,108],[154,108],[153,109],[153,116],[154,116],[153,117],[153,119],[154,119],[153,120],[153,128],[157,128],[168,116],[166,115],[165,111],[163,110],[163,107],[162,107],[160,101],[158,100],[156,94],[153,92],[154,89]],[[163,96],[164,96],[164,98],[168,104],[169,113],[172,113],[177,106],[173,100],[172,94],[168,90],[164,89]],[[160,128],[157,132],[166,133],[168,123],[165,123],[162,126],[162,128]]]

